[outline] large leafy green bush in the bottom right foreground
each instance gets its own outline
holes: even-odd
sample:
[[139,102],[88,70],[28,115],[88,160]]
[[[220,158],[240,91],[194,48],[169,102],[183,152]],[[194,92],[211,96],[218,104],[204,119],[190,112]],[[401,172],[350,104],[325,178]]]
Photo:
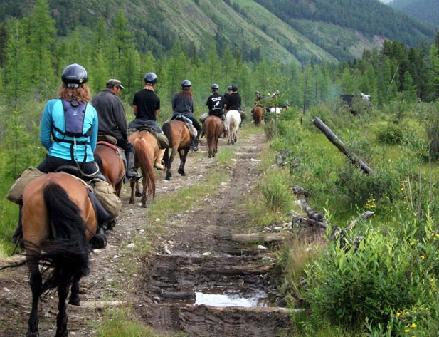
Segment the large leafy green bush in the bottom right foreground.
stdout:
[[330,243],[307,269],[305,299],[312,316],[347,326],[368,318],[376,327],[401,316],[398,311],[405,308],[438,303],[439,234],[431,219],[422,231],[419,227],[416,220],[403,224],[402,237],[392,230],[382,234],[369,229],[358,251]]

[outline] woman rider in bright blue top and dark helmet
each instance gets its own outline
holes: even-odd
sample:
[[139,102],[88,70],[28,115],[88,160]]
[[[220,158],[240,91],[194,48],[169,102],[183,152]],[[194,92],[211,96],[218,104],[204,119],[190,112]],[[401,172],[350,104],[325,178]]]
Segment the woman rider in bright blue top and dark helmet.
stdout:
[[[63,83],[57,98],[49,100],[41,118],[40,140],[48,154],[38,165],[41,172],[55,172],[58,167],[70,165],[91,177],[99,172],[93,157],[97,140],[97,113],[90,104],[90,89],[85,84],[87,71],[77,63],[66,66],[61,75]],[[53,140],[52,140],[52,138]],[[95,234],[105,242],[105,228]],[[14,239],[21,238],[21,212]]]

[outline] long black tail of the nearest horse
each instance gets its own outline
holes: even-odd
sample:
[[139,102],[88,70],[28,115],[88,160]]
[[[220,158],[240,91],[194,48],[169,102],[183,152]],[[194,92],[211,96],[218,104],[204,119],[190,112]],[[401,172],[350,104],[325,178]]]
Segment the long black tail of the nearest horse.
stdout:
[[54,239],[50,247],[34,256],[40,264],[53,268],[41,293],[56,286],[70,285],[81,276],[88,275],[91,252],[81,211],[63,187],[50,183],[44,187],[43,195]]

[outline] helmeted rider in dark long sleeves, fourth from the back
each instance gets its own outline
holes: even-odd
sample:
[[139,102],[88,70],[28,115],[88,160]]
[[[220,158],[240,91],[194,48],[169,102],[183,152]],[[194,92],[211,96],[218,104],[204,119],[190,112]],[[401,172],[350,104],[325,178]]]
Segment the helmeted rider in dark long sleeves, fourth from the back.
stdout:
[[198,151],[198,139],[199,135],[201,135],[202,128],[194,118],[194,96],[191,92],[191,85],[192,83],[189,80],[181,82],[181,91],[176,93],[174,98],[172,98],[172,110],[174,111],[174,115],[172,115],[171,120],[174,120],[178,115],[183,115],[192,121],[196,128],[197,135],[196,137],[192,137],[189,150]]

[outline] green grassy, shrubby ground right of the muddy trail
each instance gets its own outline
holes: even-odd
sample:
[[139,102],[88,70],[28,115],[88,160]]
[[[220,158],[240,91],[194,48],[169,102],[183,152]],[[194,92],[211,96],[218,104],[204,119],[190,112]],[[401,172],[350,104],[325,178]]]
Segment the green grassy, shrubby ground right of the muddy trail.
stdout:
[[[297,165],[265,172],[260,185],[265,209],[289,212],[290,195],[278,189],[294,184],[310,190],[310,206],[339,227],[364,210],[376,213],[348,234],[345,249],[334,242],[317,246],[297,239],[280,253],[285,271],[281,290],[291,306],[312,312],[296,317],[301,336],[427,336],[438,329],[439,170],[435,160],[426,159],[428,153],[438,157],[427,146],[428,139],[437,139],[438,106],[393,108],[354,117],[316,107],[302,125],[292,111],[282,115],[280,137],[270,144],[273,152],[267,157],[273,162],[281,150],[300,159],[293,160]],[[351,165],[312,125],[314,116],[376,173],[364,175]],[[278,189],[267,190],[264,180]],[[267,214],[259,212],[254,222],[265,222]],[[358,251],[349,243],[356,235],[366,237]]]

